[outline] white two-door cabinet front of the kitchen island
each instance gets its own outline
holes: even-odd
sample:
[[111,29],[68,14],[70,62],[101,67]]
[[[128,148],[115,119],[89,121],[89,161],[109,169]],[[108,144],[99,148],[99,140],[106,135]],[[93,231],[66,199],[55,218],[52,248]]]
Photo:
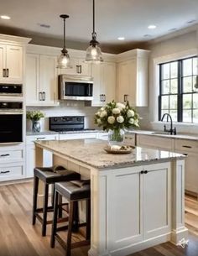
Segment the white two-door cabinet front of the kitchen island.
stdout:
[[112,203],[107,206],[107,211],[108,222],[112,224],[108,235],[113,241],[112,250],[171,231],[169,163],[116,170],[109,182],[109,201]]

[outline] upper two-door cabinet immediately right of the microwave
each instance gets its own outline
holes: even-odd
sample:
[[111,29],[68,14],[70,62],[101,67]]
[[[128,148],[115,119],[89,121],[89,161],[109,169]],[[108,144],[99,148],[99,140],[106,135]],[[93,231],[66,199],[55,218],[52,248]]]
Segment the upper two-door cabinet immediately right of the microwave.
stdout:
[[112,102],[116,97],[116,64],[103,62],[91,66],[93,77],[92,106],[102,107],[107,102]]

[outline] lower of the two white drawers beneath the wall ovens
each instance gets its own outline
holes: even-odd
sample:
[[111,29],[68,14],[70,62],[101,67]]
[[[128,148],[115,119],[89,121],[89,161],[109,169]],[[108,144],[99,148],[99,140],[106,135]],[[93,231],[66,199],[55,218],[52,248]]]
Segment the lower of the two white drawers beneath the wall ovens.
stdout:
[[23,165],[0,165],[0,181],[17,180],[23,178]]

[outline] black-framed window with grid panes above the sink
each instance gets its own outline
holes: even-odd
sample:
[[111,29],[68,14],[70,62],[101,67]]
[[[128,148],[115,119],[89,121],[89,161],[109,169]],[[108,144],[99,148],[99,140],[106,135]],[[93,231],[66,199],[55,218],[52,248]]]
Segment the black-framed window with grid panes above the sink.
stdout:
[[198,123],[197,57],[159,65],[159,120],[168,112],[173,121]]

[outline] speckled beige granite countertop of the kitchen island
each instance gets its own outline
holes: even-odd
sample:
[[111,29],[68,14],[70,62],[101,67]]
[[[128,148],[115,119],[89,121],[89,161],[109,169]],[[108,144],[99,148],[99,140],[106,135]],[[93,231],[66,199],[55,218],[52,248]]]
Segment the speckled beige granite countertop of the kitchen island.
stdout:
[[35,144],[43,149],[76,159],[87,166],[96,169],[114,169],[133,165],[147,165],[154,162],[166,162],[171,159],[183,159],[183,154],[162,151],[157,149],[144,149],[136,147],[131,154],[107,154],[104,150],[107,142],[99,139],[76,139],[76,140],[45,140]]

